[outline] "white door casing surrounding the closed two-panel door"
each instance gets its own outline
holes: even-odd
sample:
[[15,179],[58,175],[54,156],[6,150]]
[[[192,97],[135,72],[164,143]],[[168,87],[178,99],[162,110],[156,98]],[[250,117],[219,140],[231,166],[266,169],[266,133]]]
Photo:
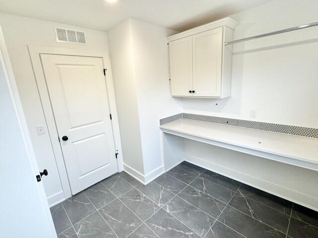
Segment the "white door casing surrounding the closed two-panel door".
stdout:
[[95,58],[102,59],[104,68],[107,69],[105,80],[106,80],[106,86],[107,86],[107,92],[108,92],[109,109],[112,116],[112,129],[113,129],[115,147],[119,153],[118,159],[117,159],[118,171],[121,172],[124,169],[123,157],[121,153],[119,124],[118,124],[115,91],[114,91],[114,84],[113,84],[109,54],[108,52],[106,53],[102,51],[87,51],[87,50],[47,47],[47,46],[33,46],[33,45],[28,45],[28,50],[29,50],[29,54],[30,54],[30,58],[31,58],[32,66],[33,66],[33,72],[36,79],[36,84],[38,86],[39,95],[41,98],[42,108],[43,108],[44,116],[46,119],[46,124],[48,127],[48,132],[49,132],[52,148],[54,151],[56,164],[57,164],[60,179],[61,179],[64,196],[65,196],[65,199],[67,199],[72,196],[71,187],[70,187],[69,179],[67,176],[66,167],[64,164],[62,149],[60,146],[60,142],[58,141],[58,132],[57,132],[54,116],[53,116],[53,110],[51,107],[50,97],[47,90],[47,84],[45,81],[42,63],[40,60],[40,54],[95,57]]

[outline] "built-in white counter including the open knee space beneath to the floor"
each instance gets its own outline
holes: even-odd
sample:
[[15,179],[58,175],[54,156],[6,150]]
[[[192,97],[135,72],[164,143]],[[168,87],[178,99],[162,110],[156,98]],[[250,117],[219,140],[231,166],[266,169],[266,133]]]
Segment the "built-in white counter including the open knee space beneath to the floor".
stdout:
[[165,171],[185,160],[318,211],[318,138],[184,118],[160,129]]

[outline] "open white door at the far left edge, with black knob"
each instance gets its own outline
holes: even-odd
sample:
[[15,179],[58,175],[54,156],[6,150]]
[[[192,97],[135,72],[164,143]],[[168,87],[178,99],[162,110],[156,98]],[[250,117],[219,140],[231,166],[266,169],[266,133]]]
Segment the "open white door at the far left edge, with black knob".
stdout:
[[56,238],[1,28],[0,114],[0,236]]

